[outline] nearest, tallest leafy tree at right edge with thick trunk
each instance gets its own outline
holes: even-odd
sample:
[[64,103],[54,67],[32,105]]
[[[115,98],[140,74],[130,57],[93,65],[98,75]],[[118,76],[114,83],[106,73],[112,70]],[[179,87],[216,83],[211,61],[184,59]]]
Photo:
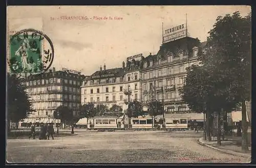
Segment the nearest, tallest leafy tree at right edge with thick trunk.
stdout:
[[232,102],[230,106],[242,103],[242,149],[248,151],[245,101],[251,98],[251,14],[219,16],[209,34],[200,59],[215,82],[215,96]]

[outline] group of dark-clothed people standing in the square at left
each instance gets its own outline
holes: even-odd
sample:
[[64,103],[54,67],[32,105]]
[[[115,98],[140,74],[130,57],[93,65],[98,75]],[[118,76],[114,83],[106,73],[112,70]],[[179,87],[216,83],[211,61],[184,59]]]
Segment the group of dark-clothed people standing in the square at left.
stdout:
[[[53,134],[54,134],[54,128],[53,128],[53,124],[41,124],[40,126],[40,132],[39,132],[39,139],[50,139],[50,136],[53,138]],[[33,139],[35,139],[35,125],[33,124],[31,126],[31,133],[29,135],[29,139],[30,137],[33,137]]]

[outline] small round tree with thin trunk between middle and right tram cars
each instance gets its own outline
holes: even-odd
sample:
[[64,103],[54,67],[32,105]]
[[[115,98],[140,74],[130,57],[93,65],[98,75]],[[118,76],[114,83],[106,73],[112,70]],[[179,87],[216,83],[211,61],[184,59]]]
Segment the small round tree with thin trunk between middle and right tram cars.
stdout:
[[152,129],[154,128],[155,117],[163,113],[162,109],[163,109],[162,102],[157,101],[156,99],[153,99],[150,105],[148,105],[147,111],[152,117]]

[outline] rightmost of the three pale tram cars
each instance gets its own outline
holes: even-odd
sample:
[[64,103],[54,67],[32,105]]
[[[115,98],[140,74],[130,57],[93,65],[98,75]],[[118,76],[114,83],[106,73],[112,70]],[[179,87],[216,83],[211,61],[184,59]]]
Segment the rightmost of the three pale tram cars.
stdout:
[[165,118],[165,129],[188,129],[187,119],[185,118]]

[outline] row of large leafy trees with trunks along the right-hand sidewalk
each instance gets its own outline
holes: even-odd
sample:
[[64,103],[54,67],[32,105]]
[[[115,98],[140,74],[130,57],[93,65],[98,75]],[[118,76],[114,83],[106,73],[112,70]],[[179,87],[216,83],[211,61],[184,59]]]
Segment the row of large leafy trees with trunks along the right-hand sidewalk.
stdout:
[[[239,12],[219,16],[209,32],[206,48],[200,50],[199,66],[187,68],[185,86],[180,91],[190,109],[209,117],[230,113],[242,106],[242,149],[248,151],[245,101],[251,99],[251,15]],[[221,145],[220,124],[218,144]]]

